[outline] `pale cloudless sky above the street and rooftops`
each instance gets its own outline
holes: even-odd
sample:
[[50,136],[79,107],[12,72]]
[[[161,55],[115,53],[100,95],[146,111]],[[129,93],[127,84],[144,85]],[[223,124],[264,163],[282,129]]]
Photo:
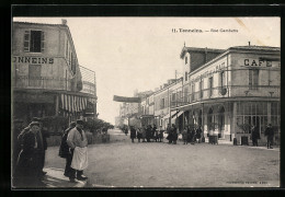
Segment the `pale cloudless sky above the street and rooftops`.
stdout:
[[[168,79],[174,79],[175,70],[182,70],[180,54],[184,44],[227,49],[246,46],[248,42],[280,47],[281,42],[280,18],[96,16],[14,18],[13,21],[60,24],[61,19],[67,20],[79,65],[95,71],[99,118],[112,124],[121,104],[113,101],[113,95],[155,91]],[[180,32],[180,28],[202,32]]]

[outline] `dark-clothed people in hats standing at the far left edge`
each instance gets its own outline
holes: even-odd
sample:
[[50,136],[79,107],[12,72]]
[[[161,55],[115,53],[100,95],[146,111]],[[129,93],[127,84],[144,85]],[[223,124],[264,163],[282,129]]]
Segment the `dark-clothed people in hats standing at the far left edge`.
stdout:
[[23,128],[23,120],[15,119],[13,126],[12,181],[14,186],[43,186],[46,172],[45,152],[48,138],[41,118],[34,117]]

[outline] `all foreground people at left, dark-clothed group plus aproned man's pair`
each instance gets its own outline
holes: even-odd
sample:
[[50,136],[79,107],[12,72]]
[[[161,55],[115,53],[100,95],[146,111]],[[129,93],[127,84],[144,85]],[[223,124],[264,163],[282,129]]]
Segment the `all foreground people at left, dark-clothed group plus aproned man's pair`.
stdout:
[[[78,161],[73,161],[75,150],[87,148],[88,140],[83,128],[83,121],[71,123],[64,132],[67,148],[60,144],[59,154],[66,158],[65,176],[70,182],[75,178],[84,181],[82,169],[78,169]],[[48,131],[43,127],[41,118],[34,117],[32,123],[23,128],[23,120],[15,119],[13,125],[13,153],[12,153],[12,183],[15,187],[41,187],[45,186],[43,179],[47,172],[44,171],[45,152],[47,150]],[[62,138],[64,139],[64,138]],[[62,140],[64,141],[64,140]],[[61,141],[61,143],[62,143]],[[80,151],[80,150],[78,150]],[[87,153],[86,153],[87,155]]]

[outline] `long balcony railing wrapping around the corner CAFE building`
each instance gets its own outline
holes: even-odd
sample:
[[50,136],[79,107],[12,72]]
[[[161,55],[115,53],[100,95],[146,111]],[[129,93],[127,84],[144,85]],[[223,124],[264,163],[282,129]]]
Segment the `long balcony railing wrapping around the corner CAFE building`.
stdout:
[[259,96],[259,97],[280,97],[278,85],[231,85],[231,86],[218,86],[213,89],[204,89],[182,97],[178,97],[175,101],[171,101],[171,107],[178,107],[195,102],[201,102],[209,99],[223,99],[223,97],[240,97],[240,96]]

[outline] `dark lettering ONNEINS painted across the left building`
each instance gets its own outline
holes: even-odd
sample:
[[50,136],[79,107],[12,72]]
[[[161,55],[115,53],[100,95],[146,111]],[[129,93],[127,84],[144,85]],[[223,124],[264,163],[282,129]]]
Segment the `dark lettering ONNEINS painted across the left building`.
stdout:
[[53,65],[55,60],[47,57],[14,56],[12,61],[15,63]]

